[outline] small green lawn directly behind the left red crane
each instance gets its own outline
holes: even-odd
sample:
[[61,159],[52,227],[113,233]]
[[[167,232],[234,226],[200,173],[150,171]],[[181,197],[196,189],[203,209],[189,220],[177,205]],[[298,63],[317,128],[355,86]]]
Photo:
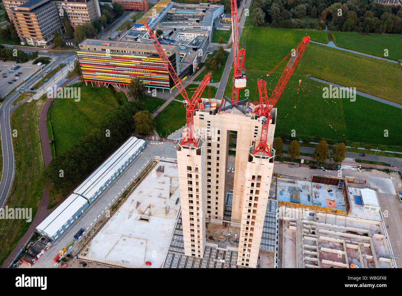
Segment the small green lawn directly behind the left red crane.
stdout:
[[[193,92],[198,87],[198,85],[190,84],[186,87],[187,94],[189,96],[193,95]],[[217,88],[211,87],[211,93],[208,93],[208,87],[206,87],[201,95],[203,98],[215,97]],[[156,122],[156,132],[160,137],[167,137],[172,132],[178,130],[186,124],[186,109],[181,101],[184,100],[183,96],[180,94],[175,99],[180,100],[172,101],[162,112],[160,112],[155,117]],[[173,105],[172,105],[173,104]],[[165,112],[166,110],[166,112]]]

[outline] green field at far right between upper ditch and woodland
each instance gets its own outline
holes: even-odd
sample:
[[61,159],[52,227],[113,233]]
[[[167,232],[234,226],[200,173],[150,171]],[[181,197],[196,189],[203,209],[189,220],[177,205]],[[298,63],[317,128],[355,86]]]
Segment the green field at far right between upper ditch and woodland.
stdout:
[[[402,59],[402,35],[370,34],[361,35],[356,32],[331,32],[336,46],[364,52],[390,60]],[[384,50],[388,49],[388,56]]]

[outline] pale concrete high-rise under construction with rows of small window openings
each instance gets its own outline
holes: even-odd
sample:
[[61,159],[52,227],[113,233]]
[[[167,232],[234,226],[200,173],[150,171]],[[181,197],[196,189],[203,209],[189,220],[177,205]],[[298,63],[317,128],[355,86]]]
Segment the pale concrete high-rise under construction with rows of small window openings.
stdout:
[[[275,150],[271,146],[277,109],[271,110],[269,153],[254,153],[262,128],[255,112],[259,103],[231,105],[225,99],[210,102],[213,107],[194,112],[197,145],[177,146],[185,255],[203,257],[206,222],[236,226],[240,228],[237,265],[255,268],[273,174]],[[226,175],[231,135],[237,136],[232,207],[228,213]],[[187,136],[186,129],[182,136]]]

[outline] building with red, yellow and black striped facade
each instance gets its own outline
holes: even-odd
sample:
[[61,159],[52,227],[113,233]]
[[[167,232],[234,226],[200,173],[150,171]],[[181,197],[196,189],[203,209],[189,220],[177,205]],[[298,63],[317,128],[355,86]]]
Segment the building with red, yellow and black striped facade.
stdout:
[[[182,69],[178,45],[162,44],[162,47],[180,78],[193,72],[191,64],[183,65]],[[77,56],[84,81],[128,85],[132,78],[138,77],[146,87],[169,90],[174,87],[152,43],[84,39]]]

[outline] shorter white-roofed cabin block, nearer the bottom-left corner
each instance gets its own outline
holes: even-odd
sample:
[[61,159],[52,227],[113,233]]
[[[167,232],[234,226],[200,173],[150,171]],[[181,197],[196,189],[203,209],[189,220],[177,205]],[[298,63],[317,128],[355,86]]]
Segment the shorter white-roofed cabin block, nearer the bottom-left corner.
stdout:
[[36,228],[37,232],[55,241],[88,207],[88,201],[79,195],[70,195]]

